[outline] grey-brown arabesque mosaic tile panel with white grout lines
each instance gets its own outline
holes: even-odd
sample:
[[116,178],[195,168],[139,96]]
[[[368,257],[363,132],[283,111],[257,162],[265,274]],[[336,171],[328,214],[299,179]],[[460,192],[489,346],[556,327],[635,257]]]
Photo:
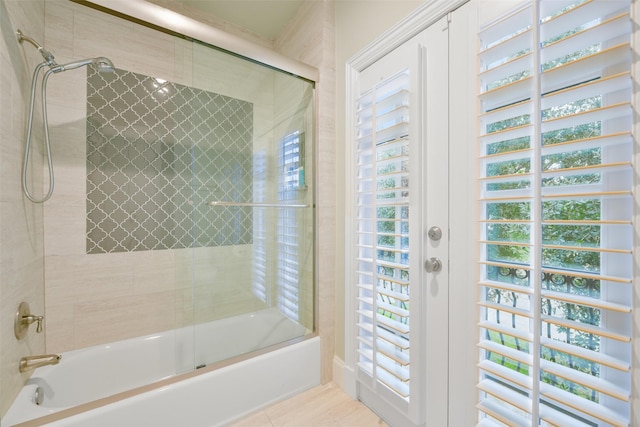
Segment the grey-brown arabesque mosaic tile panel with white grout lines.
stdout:
[[253,104],[87,73],[87,253],[251,243]]

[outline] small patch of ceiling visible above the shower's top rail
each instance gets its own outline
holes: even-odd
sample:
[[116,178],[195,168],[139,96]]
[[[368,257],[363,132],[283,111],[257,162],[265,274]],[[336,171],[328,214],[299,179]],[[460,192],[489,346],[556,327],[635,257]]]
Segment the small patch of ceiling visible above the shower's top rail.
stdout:
[[185,6],[273,40],[304,0],[185,0]]

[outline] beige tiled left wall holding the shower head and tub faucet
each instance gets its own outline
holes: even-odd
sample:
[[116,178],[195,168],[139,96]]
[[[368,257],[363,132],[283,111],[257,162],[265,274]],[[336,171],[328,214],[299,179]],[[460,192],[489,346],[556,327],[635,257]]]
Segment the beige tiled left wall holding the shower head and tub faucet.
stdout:
[[[21,341],[13,331],[21,301],[44,314],[42,206],[25,201],[20,184],[31,75],[42,58],[18,43],[17,29],[43,42],[44,1],[0,0],[0,417],[27,379],[18,372],[20,358],[44,351],[44,334],[36,334],[35,326]],[[41,123],[37,119],[36,127]],[[42,132],[35,132],[34,147],[41,141]],[[42,192],[41,153],[32,151],[29,186],[35,195]]]

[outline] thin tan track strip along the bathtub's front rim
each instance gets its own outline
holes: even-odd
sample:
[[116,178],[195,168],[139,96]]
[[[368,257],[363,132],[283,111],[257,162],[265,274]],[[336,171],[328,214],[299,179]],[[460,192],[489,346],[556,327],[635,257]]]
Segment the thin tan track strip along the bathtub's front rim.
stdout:
[[126,390],[120,393],[116,393],[113,394],[111,396],[107,396],[107,397],[103,397],[100,399],[96,399],[96,400],[92,400],[91,402],[87,402],[87,403],[83,403],[82,405],[78,405],[78,406],[74,406],[71,408],[66,408],[66,409],[62,409],[60,411],[54,412],[52,414],[48,414],[42,417],[38,417],[38,418],[33,418],[30,419],[28,421],[24,421],[18,424],[14,424],[12,427],[40,427],[42,425],[46,425],[48,423],[52,423],[55,421],[61,421],[64,420],[65,418],[69,418],[72,417],[74,415],[78,415],[78,414],[82,414],[84,412],[88,412],[94,409],[98,409],[98,408],[102,408],[104,406],[107,405],[111,405],[113,403],[117,403],[129,398],[132,398],[134,396],[138,396],[144,393],[148,393],[163,387],[167,387],[170,386],[172,384],[176,384],[182,381],[186,381],[189,380],[191,378],[195,378],[195,377],[199,377],[201,375],[205,375],[207,373],[210,372],[214,372],[217,370],[220,370],[222,368],[231,366],[231,365],[235,365],[237,363],[243,362],[245,360],[250,360],[253,359],[255,357],[259,357],[261,355],[264,354],[268,354],[271,353],[273,351],[276,350],[280,350],[289,346],[293,346],[296,344],[299,344],[301,342],[304,341],[308,341],[311,339],[314,339],[316,337],[319,337],[319,334],[317,331],[311,332],[309,334],[306,334],[302,337],[297,337],[297,338],[292,338],[290,340],[287,341],[283,341],[281,343],[278,344],[274,344],[272,346],[269,347],[264,347],[262,349],[259,350],[255,350],[252,352],[248,352],[248,353],[244,353],[238,356],[235,356],[233,358],[230,359],[226,359],[226,360],[221,360],[219,362],[215,362],[212,363],[210,365],[207,365],[205,367],[202,368],[194,368],[192,371],[189,372],[184,372],[184,373],[180,373],[180,374],[176,374],[174,376],[171,376],[169,378],[165,378],[159,381],[156,381],[154,383],[151,384],[145,384],[143,386],[140,387],[136,387],[133,388],[131,390]]

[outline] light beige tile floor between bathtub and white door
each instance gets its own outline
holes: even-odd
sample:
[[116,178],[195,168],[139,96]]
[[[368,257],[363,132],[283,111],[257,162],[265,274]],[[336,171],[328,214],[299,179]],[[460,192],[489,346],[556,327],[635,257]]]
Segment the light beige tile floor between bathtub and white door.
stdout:
[[329,383],[244,418],[231,427],[388,427],[362,403]]

